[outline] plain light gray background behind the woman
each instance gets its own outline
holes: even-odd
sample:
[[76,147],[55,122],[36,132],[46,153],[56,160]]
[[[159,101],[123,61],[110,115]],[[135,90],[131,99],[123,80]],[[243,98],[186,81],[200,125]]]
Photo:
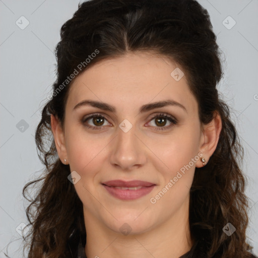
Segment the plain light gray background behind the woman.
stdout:
[[[20,223],[27,223],[25,207],[28,205],[22,198],[22,188],[43,168],[34,142],[39,108],[55,80],[53,49],[59,41],[60,27],[72,17],[79,2],[0,0],[0,258],[5,257],[3,250],[12,240],[16,241],[9,245],[9,254],[21,257],[22,241],[16,228]],[[225,54],[225,75],[219,91],[232,109],[245,149],[243,169],[248,178],[246,193],[251,204],[247,236],[254,253],[258,254],[258,1],[199,2],[210,13],[218,44]],[[24,29],[20,27],[26,25],[26,20],[21,16],[29,22]],[[236,24],[232,27],[234,21]],[[20,122],[22,119],[28,128],[24,121]]]

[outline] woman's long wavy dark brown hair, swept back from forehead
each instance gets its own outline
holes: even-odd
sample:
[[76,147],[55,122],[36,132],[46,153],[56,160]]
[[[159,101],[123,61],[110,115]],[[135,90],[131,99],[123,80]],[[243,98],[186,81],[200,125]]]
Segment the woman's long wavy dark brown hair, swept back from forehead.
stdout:
[[[229,108],[216,89],[223,76],[222,52],[207,10],[194,0],[91,0],[79,5],[73,18],[61,27],[60,36],[53,91],[75,69],[80,74],[94,63],[127,52],[152,52],[180,64],[198,101],[200,121],[209,123],[215,111],[222,119],[217,148],[205,167],[196,168],[190,189],[189,226],[194,243],[190,254],[201,257],[198,250],[202,250],[207,258],[251,257],[245,235],[246,178],[240,169],[243,148]],[[96,49],[99,53],[86,64]],[[83,61],[79,71],[78,64]],[[38,154],[46,169],[42,177],[23,189],[31,202],[26,209],[31,226],[26,237],[28,258],[72,257],[73,246],[80,237],[84,243],[86,239],[83,205],[67,178],[69,165],[63,165],[57,156],[50,126],[51,114],[63,126],[70,85],[44,105],[36,130]],[[35,183],[41,184],[36,195],[28,199],[28,188]],[[236,228],[231,236],[222,231],[228,222]]]

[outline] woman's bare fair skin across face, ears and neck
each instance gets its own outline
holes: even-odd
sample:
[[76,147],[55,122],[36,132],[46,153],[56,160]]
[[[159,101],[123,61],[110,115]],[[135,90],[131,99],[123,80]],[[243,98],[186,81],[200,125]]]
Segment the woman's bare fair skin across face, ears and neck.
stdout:
[[[58,156],[81,176],[74,186],[84,207],[88,258],[178,258],[192,246],[189,189],[195,168],[203,166],[201,159],[155,204],[150,199],[198,153],[209,161],[218,143],[221,118],[217,114],[207,125],[200,122],[186,76],[179,81],[170,76],[177,67],[183,71],[171,59],[146,52],[102,60],[73,81],[63,128],[51,115]],[[167,99],[186,110],[173,105],[139,113],[143,105]],[[74,109],[83,100],[108,103],[116,112],[87,105]],[[82,121],[94,113],[106,117],[104,124]],[[152,119],[160,113],[176,118],[177,123],[165,119],[162,126],[167,129],[160,130],[157,119]],[[119,128],[124,119],[133,126],[127,133]],[[139,179],[156,186],[144,197],[125,201],[111,196],[101,184],[113,179]],[[128,235],[119,229],[124,223],[131,227]]]

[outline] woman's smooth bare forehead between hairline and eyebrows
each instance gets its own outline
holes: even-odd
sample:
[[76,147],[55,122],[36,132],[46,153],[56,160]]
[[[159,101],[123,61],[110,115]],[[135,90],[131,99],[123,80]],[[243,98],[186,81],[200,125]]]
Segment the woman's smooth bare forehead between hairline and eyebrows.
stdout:
[[67,105],[92,99],[128,108],[165,98],[197,111],[196,99],[178,64],[165,56],[130,53],[99,61],[80,74],[70,86]]

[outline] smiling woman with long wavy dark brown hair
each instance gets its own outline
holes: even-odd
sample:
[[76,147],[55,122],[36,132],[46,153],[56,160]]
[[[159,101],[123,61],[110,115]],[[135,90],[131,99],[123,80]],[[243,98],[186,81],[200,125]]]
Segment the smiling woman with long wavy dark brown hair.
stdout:
[[255,257],[207,11],[193,0],[85,2],[56,56],[28,257]]

